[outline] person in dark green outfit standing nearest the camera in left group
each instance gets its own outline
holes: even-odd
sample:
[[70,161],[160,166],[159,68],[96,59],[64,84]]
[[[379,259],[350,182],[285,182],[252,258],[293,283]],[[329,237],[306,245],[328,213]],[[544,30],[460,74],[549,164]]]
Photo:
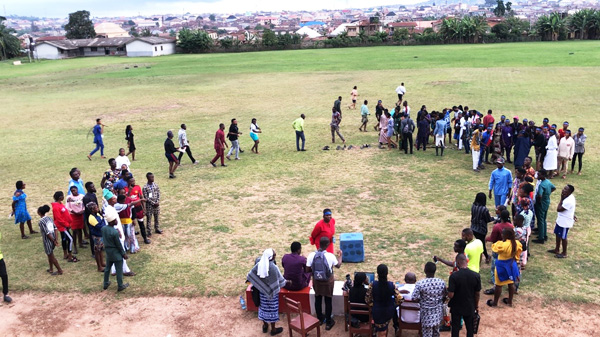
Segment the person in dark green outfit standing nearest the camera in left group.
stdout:
[[[171,136],[172,137],[172,136]],[[112,194],[112,193],[111,193]],[[114,197],[114,196],[113,196]],[[113,207],[107,207],[104,210],[104,215],[108,226],[102,227],[102,242],[106,252],[106,268],[104,268],[104,284],[103,289],[106,290],[110,286],[110,270],[115,267],[117,273],[117,291],[123,291],[129,287],[129,283],[123,284],[123,260],[129,257],[121,245],[119,240],[119,232],[115,229],[119,214]]]

